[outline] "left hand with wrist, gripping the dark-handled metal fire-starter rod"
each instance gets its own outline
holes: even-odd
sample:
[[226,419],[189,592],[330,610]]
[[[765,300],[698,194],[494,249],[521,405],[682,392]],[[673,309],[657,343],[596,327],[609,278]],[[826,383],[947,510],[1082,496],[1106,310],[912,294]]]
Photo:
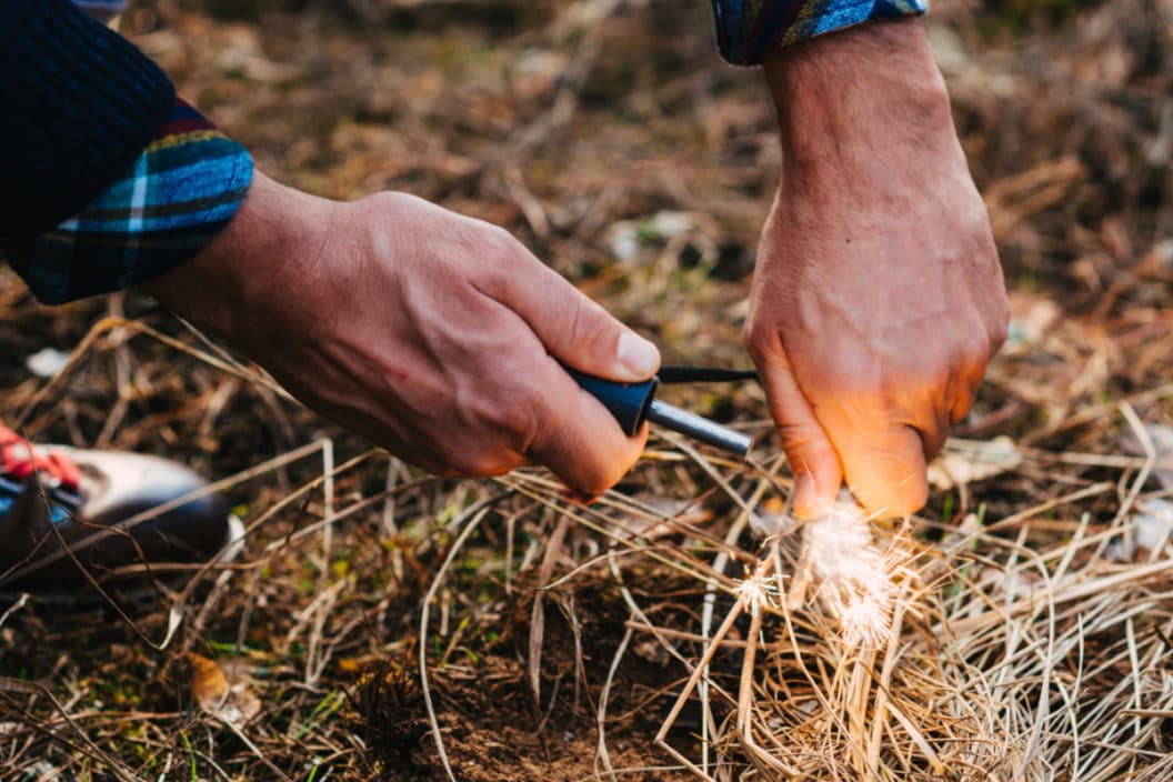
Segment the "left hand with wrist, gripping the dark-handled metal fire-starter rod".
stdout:
[[433,472],[534,461],[597,495],[646,441],[558,360],[645,380],[655,346],[506,231],[412,196],[340,204],[258,172],[224,232],[148,290],[312,409]]

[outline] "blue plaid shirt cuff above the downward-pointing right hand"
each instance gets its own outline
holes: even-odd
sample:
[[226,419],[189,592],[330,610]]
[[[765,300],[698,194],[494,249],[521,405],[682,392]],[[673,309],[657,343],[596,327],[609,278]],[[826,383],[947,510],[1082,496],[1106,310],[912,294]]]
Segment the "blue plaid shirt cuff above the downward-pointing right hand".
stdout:
[[717,45],[738,66],[773,48],[884,16],[923,14],[928,0],[712,0]]

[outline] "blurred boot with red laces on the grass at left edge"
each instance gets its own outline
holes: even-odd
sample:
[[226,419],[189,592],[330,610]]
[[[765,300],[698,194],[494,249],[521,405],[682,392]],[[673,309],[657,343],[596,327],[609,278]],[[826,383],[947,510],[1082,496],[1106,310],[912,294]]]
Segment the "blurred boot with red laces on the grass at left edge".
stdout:
[[223,497],[182,502],[205,485],[165,458],[34,447],[0,424],[0,589],[60,592],[89,582],[82,569],[102,579],[231,558],[244,529]]

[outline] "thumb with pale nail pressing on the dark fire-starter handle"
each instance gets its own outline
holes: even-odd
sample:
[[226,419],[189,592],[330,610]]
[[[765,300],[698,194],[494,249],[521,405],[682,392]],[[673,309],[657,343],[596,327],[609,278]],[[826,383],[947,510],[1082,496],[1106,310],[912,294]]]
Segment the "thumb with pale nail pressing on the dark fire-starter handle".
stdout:
[[550,355],[579,372],[619,382],[656,374],[660,356],[655,345],[526,254],[531,263],[524,264],[515,281],[495,298],[526,321]]

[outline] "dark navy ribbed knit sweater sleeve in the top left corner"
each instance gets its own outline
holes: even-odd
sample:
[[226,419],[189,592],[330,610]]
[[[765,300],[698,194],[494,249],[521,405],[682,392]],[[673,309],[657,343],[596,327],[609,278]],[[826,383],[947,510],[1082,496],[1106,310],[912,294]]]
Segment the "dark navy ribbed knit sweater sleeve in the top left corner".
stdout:
[[0,2],[0,240],[93,200],[168,117],[175,88],[67,0]]

